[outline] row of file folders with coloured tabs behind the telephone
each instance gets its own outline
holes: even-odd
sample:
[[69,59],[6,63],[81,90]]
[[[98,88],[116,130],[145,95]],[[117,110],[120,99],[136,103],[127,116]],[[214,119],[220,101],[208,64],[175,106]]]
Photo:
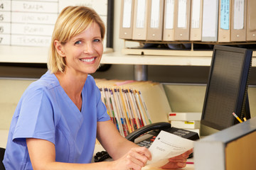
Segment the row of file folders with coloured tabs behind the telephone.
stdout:
[[[124,137],[145,125],[166,121],[164,115],[171,111],[163,87],[159,83],[105,79],[95,81],[107,113]],[[155,111],[156,109],[158,110]]]

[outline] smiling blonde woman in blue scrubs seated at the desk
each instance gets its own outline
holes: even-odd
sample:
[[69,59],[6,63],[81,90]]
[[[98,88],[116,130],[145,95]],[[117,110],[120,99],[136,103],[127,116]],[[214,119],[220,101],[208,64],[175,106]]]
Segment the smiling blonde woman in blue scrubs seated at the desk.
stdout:
[[[90,74],[100,65],[105,26],[91,8],[68,6],[55,23],[48,72],[24,92],[11,121],[6,169],[142,169],[151,159],[119,135]],[[113,162],[92,163],[95,140]],[[186,166],[191,151],[165,168]]]

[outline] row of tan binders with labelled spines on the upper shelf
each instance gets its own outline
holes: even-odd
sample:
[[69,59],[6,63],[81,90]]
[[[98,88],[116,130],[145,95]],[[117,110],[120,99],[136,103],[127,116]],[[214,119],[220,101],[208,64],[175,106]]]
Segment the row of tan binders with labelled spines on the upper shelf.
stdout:
[[119,38],[255,41],[255,5],[255,0],[122,0]]

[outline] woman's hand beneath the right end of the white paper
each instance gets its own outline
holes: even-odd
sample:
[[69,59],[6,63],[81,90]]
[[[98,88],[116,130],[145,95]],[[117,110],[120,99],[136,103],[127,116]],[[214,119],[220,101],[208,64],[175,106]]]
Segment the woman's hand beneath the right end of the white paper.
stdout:
[[189,156],[193,152],[193,149],[184,152],[176,157],[172,157],[169,159],[169,162],[164,166],[161,166],[161,169],[181,169],[186,166],[186,161]]

